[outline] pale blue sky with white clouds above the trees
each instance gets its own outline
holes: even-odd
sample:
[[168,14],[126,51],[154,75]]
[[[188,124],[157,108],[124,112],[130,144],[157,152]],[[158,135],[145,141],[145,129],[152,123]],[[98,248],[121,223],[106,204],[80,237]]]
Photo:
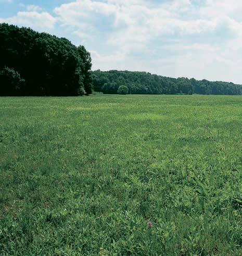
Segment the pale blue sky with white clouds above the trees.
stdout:
[[93,70],[242,84],[241,0],[0,0],[0,23],[68,38]]

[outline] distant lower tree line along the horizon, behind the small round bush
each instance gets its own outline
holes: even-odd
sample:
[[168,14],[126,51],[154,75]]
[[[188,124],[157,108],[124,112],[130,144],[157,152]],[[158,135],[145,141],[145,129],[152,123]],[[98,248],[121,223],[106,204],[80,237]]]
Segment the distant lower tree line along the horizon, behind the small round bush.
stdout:
[[170,78],[148,72],[96,70],[92,79],[94,91],[107,94],[116,94],[120,86],[125,86],[130,94],[242,94],[242,86],[232,82]]

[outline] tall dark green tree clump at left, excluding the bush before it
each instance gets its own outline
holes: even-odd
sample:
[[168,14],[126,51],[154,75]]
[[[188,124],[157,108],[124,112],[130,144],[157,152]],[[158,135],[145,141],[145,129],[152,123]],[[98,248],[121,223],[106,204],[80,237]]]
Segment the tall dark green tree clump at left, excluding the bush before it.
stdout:
[[92,92],[90,53],[65,38],[0,24],[0,70],[5,66],[25,80],[25,86],[11,95]]

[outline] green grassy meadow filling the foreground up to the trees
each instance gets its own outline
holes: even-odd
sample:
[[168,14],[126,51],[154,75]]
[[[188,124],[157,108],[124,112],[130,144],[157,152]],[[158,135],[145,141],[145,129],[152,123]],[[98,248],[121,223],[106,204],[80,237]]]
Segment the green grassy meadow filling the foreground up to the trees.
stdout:
[[240,96],[0,97],[0,255],[241,255],[241,126]]

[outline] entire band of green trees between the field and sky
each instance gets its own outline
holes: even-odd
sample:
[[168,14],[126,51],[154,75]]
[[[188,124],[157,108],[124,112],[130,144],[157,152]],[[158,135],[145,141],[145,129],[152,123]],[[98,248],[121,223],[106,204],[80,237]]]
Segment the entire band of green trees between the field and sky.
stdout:
[[85,47],[66,38],[0,23],[0,95],[224,94],[241,95],[242,86],[148,72],[91,71]]

